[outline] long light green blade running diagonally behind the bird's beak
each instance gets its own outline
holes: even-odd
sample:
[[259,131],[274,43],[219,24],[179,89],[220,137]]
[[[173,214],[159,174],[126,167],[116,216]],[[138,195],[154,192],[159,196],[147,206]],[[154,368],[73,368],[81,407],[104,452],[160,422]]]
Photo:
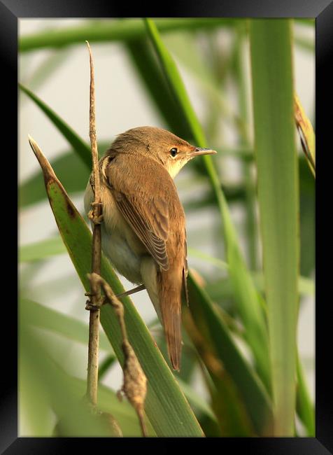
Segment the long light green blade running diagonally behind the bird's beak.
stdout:
[[[183,80],[180,78],[176,64],[162,42],[155,23],[152,20],[146,19],[146,26],[148,35],[154,44],[170,89],[190,126],[193,139],[196,143],[195,145],[206,147],[207,144],[204,131],[192,109],[192,104],[187,95]],[[206,166],[206,172],[211,180],[215,198],[220,208],[222,223],[225,228],[224,235],[225,244],[227,246],[227,262],[229,264],[229,274],[236,295],[236,304],[246,327],[246,337],[253,349],[257,370],[260,372],[260,377],[262,377],[264,384],[269,388],[269,357],[264,314],[260,307],[260,302],[257,299],[253,281],[248,274],[245,262],[241,255],[234,225],[229,214],[225,195],[222,193],[220,187],[220,181],[213,161],[210,156],[204,156],[203,160]]]

